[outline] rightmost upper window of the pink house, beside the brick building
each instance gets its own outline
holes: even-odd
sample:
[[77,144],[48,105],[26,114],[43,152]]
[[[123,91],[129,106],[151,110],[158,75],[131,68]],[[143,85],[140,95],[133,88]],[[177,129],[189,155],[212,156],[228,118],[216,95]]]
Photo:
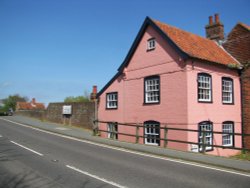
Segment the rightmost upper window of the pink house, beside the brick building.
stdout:
[[222,102],[224,104],[233,103],[233,79],[222,78]]

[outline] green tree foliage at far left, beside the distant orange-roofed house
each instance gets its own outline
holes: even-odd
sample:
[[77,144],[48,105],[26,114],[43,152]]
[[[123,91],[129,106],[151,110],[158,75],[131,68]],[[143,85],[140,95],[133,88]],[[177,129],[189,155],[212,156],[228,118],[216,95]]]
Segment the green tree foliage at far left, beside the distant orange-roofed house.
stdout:
[[10,108],[12,108],[14,111],[16,110],[16,104],[17,102],[27,102],[27,97],[22,97],[19,94],[10,95],[8,98],[4,99],[4,111],[8,111]]

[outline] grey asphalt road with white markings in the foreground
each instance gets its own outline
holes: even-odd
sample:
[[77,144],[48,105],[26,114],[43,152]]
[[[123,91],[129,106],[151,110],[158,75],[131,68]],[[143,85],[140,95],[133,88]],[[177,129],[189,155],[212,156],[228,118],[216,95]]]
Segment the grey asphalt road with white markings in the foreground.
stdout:
[[249,187],[250,175],[114,150],[0,120],[0,187]]

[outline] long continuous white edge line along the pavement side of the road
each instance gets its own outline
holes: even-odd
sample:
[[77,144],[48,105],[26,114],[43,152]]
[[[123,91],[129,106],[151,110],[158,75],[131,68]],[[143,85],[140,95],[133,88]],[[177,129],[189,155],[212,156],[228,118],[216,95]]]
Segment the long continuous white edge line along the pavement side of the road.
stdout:
[[132,151],[132,150],[129,150],[129,149],[122,149],[122,148],[118,148],[118,147],[115,147],[115,146],[108,146],[108,145],[105,145],[105,144],[99,144],[99,143],[92,142],[92,141],[82,140],[82,139],[74,138],[74,137],[71,137],[71,136],[62,135],[62,134],[59,134],[59,133],[53,133],[53,132],[45,131],[45,130],[42,130],[42,129],[39,129],[39,128],[31,127],[29,125],[25,125],[25,124],[22,124],[22,123],[17,123],[17,122],[10,121],[10,120],[7,120],[7,119],[3,119],[3,118],[0,118],[0,119],[11,122],[11,123],[14,123],[14,124],[17,124],[17,125],[21,125],[23,127],[34,129],[34,130],[37,130],[37,131],[40,131],[40,132],[44,132],[44,133],[47,133],[47,134],[51,134],[51,135],[55,135],[55,136],[59,136],[59,137],[62,137],[62,138],[67,138],[67,139],[70,139],[70,140],[83,142],[83,143],[88,143],[88,144],[91,144],[91,145],[96,145],[96,146],[100,146],[100,147],[104,147],[104,148],[123,151],[123,152],[126,152],[126,153],[132,153],[132,154],[136,154],[136,155],[140,155],[140,156],[151,157],[151,158],[154,158],[154,159],[161,159],[161,160],[165,160],[165,161],[171,161],[171,162],[175,162],[175,163],[181,163],[181,164],[186,164],[186,165],[190,165],[190,166],[196,166],[196,167],[200,167],[200,168],[206,168],[206,169],[211,169],[211,170],[216,170],[216,171],[221,171],[221,172],[226,172],[226,173],[231,173],[231,174],[237,174],[237,175],[241,175],[241,176],[250,177],[250,174],[247,174],[247,173],[240,173],[240,172],[236,172],[236,171],[232,171],[232,170],[225,170],[225,169],[210,167],[210,166],[201,165],[201,164],[198,164],[198,163],[195,163],[195,162],[186,162],[186,161],[182,161],[182,160],[178,160],[178,159],[170,159],[170,158],[165,158],[165,157],[159,157],[157,155],[145,154],[143,152]]

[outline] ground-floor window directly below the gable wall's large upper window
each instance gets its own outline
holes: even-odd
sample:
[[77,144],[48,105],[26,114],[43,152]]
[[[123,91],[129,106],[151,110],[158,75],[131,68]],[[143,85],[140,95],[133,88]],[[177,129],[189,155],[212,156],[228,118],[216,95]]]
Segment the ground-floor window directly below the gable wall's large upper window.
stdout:
[[144,122],[145,144],[160,145],[160,123],[157,121]]

